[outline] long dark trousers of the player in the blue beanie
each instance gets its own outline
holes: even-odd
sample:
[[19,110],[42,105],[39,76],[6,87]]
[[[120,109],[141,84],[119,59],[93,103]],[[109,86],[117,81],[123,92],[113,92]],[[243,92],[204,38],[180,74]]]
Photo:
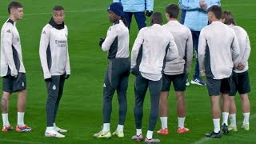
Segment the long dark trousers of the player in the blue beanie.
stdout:
[[106,70],[103,86],[103,122],[110,123],[112,98],[114,91],[118,93],[119,125],[124,125],[127,112],[126,91],[130,75],[129,58],[114,58],[110,60]]

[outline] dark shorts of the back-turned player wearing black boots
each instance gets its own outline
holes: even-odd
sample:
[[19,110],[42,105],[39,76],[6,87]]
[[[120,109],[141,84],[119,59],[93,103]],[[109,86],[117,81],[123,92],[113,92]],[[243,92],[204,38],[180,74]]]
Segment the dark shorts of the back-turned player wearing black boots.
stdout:
[[229,94],[231,89],[231,76],[230,78],[223,79],[214,79],[214,78],[206,78],[206,86],[208,89],[208,94],[212,95],[220,95]]

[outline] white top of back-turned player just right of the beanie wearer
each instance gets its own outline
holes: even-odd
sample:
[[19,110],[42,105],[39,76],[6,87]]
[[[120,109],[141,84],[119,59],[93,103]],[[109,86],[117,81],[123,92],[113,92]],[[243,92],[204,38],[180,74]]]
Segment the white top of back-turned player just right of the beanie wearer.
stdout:
[[131,68],[137,65],[136,59],[141,46],[142,62],[139,65],[139,71],[142,77],[152,81],[160,80],[164,59],[171,61],[178,58],[178,49],[172,34],[158,24],[142,28],[138,32],[131,51]]

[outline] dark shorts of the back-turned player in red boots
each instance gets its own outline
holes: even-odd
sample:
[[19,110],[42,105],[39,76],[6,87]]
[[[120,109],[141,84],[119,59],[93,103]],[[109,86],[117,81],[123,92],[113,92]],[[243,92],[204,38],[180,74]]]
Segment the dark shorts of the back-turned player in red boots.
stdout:
[[170,84],[174,83],[175,91],[186,90],[186,74],[167,75],[162,74],[162,91],[170,91]]

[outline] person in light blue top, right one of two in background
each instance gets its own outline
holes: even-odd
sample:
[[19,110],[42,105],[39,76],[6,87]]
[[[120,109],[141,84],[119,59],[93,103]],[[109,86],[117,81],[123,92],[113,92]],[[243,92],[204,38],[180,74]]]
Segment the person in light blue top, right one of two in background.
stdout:
[[186,80],[186,86],[191,84],[196,84],[199,86],[206,85],[206,82],[202,80],[199,76],[199,66],[198,66],[198,38],[200,31],[203,27],[207,26],[208,19],[206,11],[210,6],[220,6],[220,0],[179,0],[178,1],[180,8],[182,9],[181,14],[181,23],[190,28],[193,38],[193,46],[196,52],[196,64],[194,68],[194,76],[191,82],[189,79]]

